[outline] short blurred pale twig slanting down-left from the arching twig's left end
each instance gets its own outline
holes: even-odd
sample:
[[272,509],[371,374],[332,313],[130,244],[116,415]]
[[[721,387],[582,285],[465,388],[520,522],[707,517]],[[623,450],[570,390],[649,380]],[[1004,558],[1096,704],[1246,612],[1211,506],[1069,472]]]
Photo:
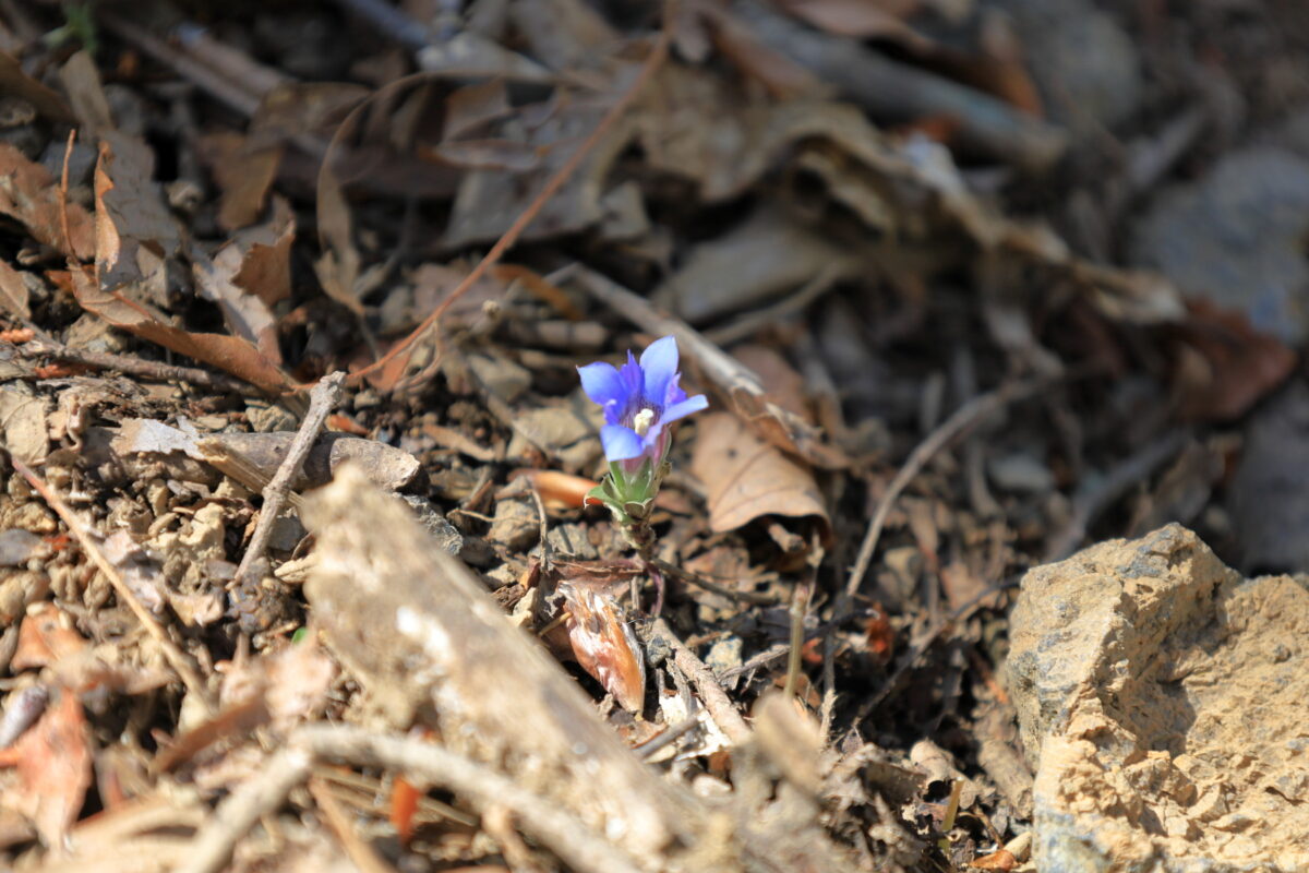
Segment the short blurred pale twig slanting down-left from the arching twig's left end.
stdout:
[[309,777],[313,763],[313,754],[301,746],[289,746],[268,758],[260,771],[219,804],[174,873],[223,870],[241,838],[287,801],[291,791]]

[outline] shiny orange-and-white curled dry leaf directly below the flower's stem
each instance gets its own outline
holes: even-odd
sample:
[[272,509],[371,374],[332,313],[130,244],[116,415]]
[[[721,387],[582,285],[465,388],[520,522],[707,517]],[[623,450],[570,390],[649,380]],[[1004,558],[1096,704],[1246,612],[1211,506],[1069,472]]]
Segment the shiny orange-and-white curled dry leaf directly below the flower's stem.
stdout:
[[568,641],[581,669],[628,712],[645,705],[645,658],[623,607],[602,586],[560,582]]

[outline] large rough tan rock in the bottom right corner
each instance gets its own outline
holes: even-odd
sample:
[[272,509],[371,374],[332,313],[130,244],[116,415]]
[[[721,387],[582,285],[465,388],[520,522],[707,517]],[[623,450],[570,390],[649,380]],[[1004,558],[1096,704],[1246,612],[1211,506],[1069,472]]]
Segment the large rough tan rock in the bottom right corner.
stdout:
[[1309,589],[1178,525],[1022,580],[1007,681],[1038,870],[1309,870]]

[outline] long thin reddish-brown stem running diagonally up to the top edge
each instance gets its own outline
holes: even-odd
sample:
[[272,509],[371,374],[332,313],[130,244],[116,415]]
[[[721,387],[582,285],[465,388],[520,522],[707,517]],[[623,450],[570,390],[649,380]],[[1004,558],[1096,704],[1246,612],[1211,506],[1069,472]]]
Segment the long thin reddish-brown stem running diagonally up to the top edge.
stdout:
[[463,281],[456,285],[454,291],[446,294],[436,309],[432,310],[432,314],[424,318],[423,323],[419,325],[408,336],[364,369],[351,373],[351,385],[356,385],[364,377],[376,373],[391,363],[395,357],[407,352],[410,347],[421,339],[432,329],[432,326],[436,325],[441,315],[444,315],[445,312],[454,305],[454,301],[466,294],[469,289],[473,288],[473,285],[476,284],[483,275],[486,275],[487,270],[499,263],[500,258],[504,257],[504,253],[513,247],[513,245],[518,241],[518,237],[522,236],[522,232],[528,229],[529,224],[531,224],[533,219],[535,219],[541,209],[545,208],[546,203],[548,203],[550,199],[559,192],[564,183],[572,178],[572,174],[577,171],[579,166],[581,166],[583,158],[585,158],[586,154],[589,154],[592,149],[600,144],[623,113],[626,113],[627,109],[636,102],[636,96],[641,93],[645,84],[664,64],[664,60],[668,58],[668,45],[673,34],[673,21],[677,18],[674,7],[675,3],[669,3],[665,7],[664,27],[660,30],[658,38],[654,41],[654,46],[651,48],[651,54],[641,65],[640,72],[636,75],[636,80],[632,82],[631,88],[628,88],[623,96],[618,98],[618,102],[610,107],[605,116],[600,119],[600,124],[597,124],[596,130],[590,132],[590,136],[588,136],[577,151],[572,153],[568,161],[560,166],[552,177],[550,177],[546,185],[541,188],[541,194],[538,194],[535,199],[528,204],[528,208],[522,211],[512,225],[509,225],[509,229],[504,232],[504,236],[501,236],[496,243],[491,246],[491,250],[487,251],[482,260],[478,262],[478,266],[473,268],[473,272],[465,276]]

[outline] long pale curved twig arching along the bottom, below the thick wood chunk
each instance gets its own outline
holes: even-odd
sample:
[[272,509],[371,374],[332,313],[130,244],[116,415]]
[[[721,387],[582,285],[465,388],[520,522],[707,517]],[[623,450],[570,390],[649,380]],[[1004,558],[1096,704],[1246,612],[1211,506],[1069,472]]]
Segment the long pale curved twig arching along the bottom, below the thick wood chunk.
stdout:
[[637,873],[640,869],[630,856],[563,811],[558,804],[449,749],[346,725],[300,728],[292,734],[291,746],[325,759],[387,767],[418,776],[461,796],[478,809],[503,806],[513,813],[525,832],[579,873]]

